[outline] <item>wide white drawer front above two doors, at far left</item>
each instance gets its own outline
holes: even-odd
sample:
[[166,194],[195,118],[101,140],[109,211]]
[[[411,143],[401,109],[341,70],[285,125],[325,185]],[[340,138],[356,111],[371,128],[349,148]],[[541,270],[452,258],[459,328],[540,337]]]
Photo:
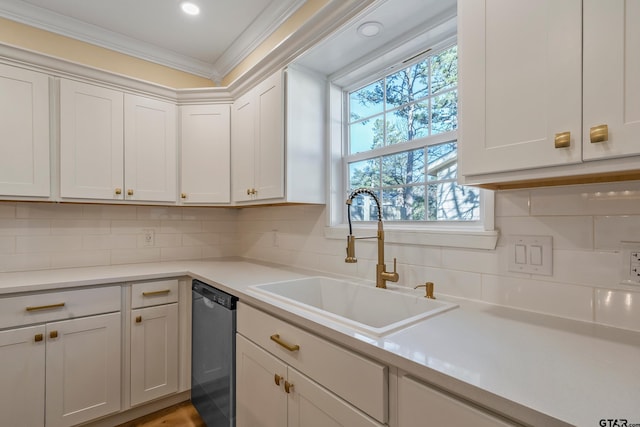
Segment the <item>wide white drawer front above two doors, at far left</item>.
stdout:
[[120,286],[0,298],[0,328],[120,311]]

